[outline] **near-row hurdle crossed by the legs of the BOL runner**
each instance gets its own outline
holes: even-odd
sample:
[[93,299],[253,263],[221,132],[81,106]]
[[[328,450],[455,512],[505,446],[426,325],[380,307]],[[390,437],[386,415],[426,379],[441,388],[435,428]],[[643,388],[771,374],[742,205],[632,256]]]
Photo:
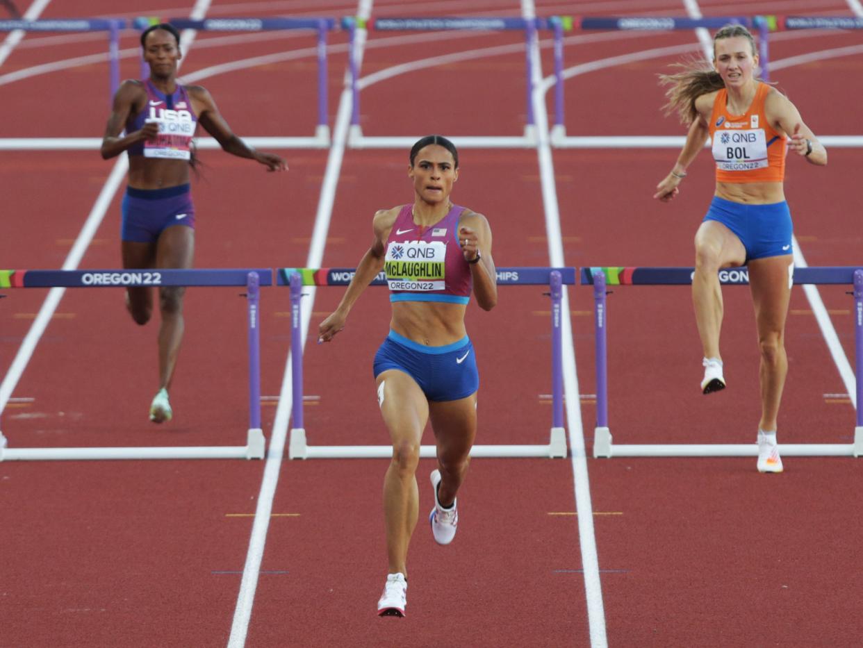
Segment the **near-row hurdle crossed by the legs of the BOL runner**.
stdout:
[[[594,286],[594,332],[596,354],[596,426],[594,456],[757,456],[757,444],[613,444],[608,427],[608,308],[606,286],[688,286],[692,267],[584,267],[583,285]],[[723,286],[746,286],[745,267],[723,269]],[[794,283],[853,284],[854,340],[857,411],[853,444],[782,444],[785,456],[860,456],[863,455],[863,269],[857,267],[796,267]]]

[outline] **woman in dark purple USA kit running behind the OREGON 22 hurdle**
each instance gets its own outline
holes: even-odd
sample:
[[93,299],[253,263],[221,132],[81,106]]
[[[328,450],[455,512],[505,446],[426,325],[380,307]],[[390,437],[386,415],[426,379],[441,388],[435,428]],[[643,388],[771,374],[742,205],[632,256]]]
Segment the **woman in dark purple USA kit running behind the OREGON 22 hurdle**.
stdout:
[[[129,152],[121,232],[123,267],[192,267],[195,208],[189,167],[194,164],[192,136],[197,124],[230,154],[260,162],[269,171],[285,171],[287,165],[278,155],[255,151],[234,135],[200,85],[177,83],[181,53],[175,28],[154,25],[142,33],[141,45],[150,66],[149,79],[123,82],[102,141],[105,160]],[[168,390],[183,338],[185,292],[181,286],[159,289],[159,389],[149,412],[155,423],[173,416]],[[137,324],[147,324],[153,312],[150,289],[127,287],[126,305]]]

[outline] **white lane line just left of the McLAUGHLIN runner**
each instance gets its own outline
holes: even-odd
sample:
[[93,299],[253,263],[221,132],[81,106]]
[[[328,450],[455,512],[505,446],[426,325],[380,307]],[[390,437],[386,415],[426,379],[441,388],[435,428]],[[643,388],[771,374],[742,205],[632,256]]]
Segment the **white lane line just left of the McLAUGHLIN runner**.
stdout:
[[[356,16],[368,19],[371,16],[371,5],[372,0],[360,0]],[[362,63],[365,38],[366,30],[357,30],[355,41],[357,66]],[[339,100],[336,123],[333,128],[332,145],[327,158],[326,170],[324,171],[324,181],[321,186],[318,213],[315,216],[315,227],[312,230],[312,243],[306,260],[306,267],[320,267],[321,260],[324,257],[324,245],[326,243],[327,230],[330,227],[332,207],[336,198],[338,176],[342,169],[344,148],[348,141],[352,106],[352,92],[350,86],[346,85]],[[306,346],[307,332],[312,319],[312,311],[314,310],[316,291],[314,287],[311,287],[304,292],[307,293],[308,299],[306,299],[305,308],[303,309],[303,321],[300,324],[303,347]],[[281,462],[285,453],[287,425],[293,404],[292,370],[293,357],[291,354],[288,354],[285,373],[282,377],[279,405],[276,407],[273,433],[271,434],[266,465],[264,467],[264,476],[261,481],[261,492],[258,494],[258,506],[255,509],[255,522],[252,525],[249,550],[246,554],[245,566],[243,567],[243,580],[240,582],[240,592],[237,595],[234,620],[230,627],[228,648],[243,648],[249,633],[249,620],[251,620],[252,606],[255,602],[258,577],[261,574],[261,560],[263,559],[264,545],[267,542],[270,513],[273,510],[275,489],[279,482]]]

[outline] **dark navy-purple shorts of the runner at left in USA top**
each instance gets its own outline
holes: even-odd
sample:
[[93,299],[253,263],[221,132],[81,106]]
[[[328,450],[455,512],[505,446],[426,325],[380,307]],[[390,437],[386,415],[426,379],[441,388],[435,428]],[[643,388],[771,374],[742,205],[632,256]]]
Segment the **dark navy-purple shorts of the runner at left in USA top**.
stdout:
[[172,225],[195,228],[195,206],[187,184],[152,190],[127,186],[122,211],[123,241],[154,243]]

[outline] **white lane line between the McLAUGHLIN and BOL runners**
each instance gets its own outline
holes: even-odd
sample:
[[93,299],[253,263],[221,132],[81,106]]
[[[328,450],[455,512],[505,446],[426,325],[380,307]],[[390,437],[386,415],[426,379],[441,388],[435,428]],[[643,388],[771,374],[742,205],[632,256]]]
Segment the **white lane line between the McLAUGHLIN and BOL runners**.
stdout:
[[[532,18],[536,11],[532,0],[522,0],[522,16]],[[548,236],[549,258],[552,266],[564,266],[563,236],[560,230],[560,210],[554,185],[554,164],[551,160],[551,145],[548,139],[548,118],[545,113],[545,94],[542,91],[542,68],[539,61],[539,47],[533,43],[532,51],[532,102],[538,137],[537,154],[541,178],[543,203],[545,204],[545,230]],[[561,308],[561,329],[563,336],[564,393],[568,403],[566,408],[569,427],[570,453],[574,475],[576,518],[578,519],[578,542],[582,551],[584,569],[584,595],[588,607],[588,626],[591,648],[606,648],[608,636],[605,624],[605,609],[602,602],[602,581],[600,579],[599,556],[596,550],[596,536],[593,524],[593,504],[590,500],[590,480],[588,475],[587,450],[584,444],[584,428],[578,394],[578,374],[576,372],[576,349],[572,343],[572,321],[570,318],[569,290],[564,286]],[[573,638],[575,639],[575,638]]]

